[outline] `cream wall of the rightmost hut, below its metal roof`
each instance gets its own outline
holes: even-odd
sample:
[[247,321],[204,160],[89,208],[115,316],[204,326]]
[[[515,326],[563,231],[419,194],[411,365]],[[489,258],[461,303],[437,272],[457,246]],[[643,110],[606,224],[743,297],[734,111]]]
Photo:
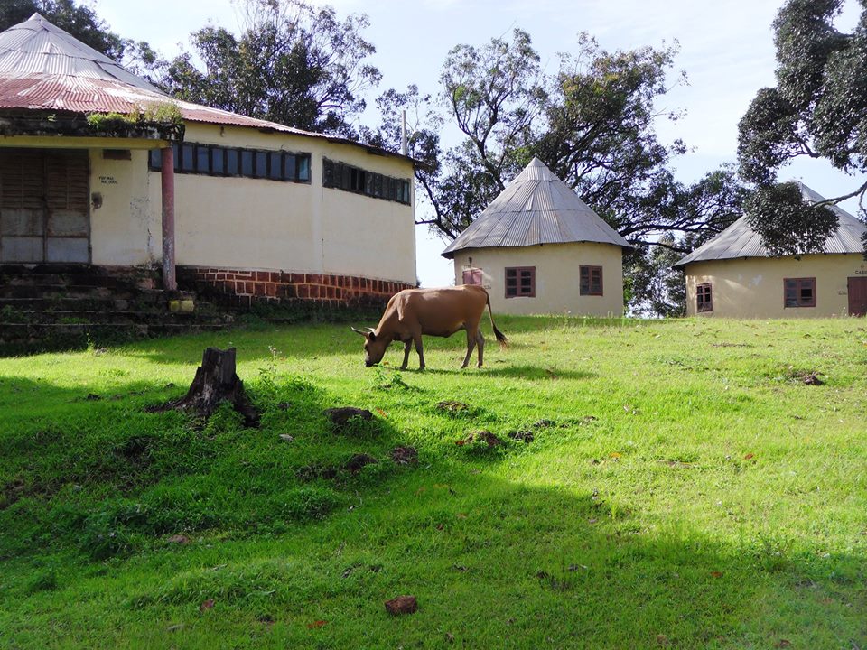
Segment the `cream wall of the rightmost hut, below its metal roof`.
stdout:
[[[848,312],[847,278],[863,277],[867,263],[856,253],[750,257],[687,265],[686,314],[695,316],[695,287],[711,283],[713,312],[699,316],[726,318],[810,318]],[[785,307],[785,278],[816,278],[816,307]]]

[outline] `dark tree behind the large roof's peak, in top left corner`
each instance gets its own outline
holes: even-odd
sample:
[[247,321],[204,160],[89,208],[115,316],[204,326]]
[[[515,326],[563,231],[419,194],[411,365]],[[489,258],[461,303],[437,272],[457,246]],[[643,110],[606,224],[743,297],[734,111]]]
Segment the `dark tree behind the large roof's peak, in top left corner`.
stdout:
[[0,3],[0,32],[23,23],[35,13],[110,59],[123,60],[131,44],[110,31],[93,9],[74,0],[4,0]]

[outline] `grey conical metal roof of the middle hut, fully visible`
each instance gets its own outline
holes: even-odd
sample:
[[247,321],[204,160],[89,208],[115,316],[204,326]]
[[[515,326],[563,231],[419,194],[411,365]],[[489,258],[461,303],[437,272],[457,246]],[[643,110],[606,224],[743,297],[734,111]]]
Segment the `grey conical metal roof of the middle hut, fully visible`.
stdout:
[[545,163],[534,158],[443,251],[443,257],[454,257],[464,248],[570,242],[631,247]]

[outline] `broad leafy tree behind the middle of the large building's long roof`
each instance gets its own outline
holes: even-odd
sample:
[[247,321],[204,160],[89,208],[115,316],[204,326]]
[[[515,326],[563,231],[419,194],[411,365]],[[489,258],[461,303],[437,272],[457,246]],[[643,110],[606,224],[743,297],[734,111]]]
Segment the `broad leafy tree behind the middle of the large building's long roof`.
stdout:
[[[309,131],[356,137],[351,124],[379,71],[361,36],[365,15],[340,20],[303,0],[245,0],[244,27],[191,34],[185,52],[154,68],[174,97]],[[197,60],[201,61],[202,68]]]

